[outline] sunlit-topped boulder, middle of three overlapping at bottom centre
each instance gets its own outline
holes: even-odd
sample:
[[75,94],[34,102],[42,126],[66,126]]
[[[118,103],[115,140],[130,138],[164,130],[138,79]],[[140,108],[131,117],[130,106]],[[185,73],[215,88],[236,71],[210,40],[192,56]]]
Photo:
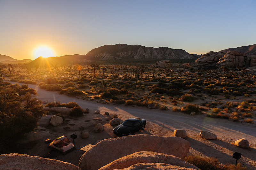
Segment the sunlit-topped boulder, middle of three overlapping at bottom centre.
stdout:
[[151,151],[141,151],[135,152],[131,155],[124,156],[122,158],[116,159],[113,162],[109,163],[101,167],[99,170],[112,170],[112,169],[123,169],[128,168],[132,165],[136,165],[138,163],[143,164],[151,164],[151,163],[162,163],[168,165],[175,165],[185,168],[194,168],[199,169],[195,165],[192,165],[185,160],[172,156],[167,155],[164,153],[156,153]]

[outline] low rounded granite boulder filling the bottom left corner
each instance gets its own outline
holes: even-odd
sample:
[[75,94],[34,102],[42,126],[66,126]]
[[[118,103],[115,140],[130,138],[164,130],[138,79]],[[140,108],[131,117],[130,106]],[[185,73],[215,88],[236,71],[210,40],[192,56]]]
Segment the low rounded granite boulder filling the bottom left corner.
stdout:
[[0,167],[0,169],[80,169],[68,162],[18,153],[0,155]]

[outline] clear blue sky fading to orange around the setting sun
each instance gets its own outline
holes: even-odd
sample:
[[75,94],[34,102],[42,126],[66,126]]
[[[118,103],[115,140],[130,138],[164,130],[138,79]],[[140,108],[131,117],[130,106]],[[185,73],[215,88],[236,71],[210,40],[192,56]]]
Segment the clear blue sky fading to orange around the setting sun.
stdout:
[[255,0],[0,0],[0,54],[36,59],[106,44],[204,54],[256,44]]

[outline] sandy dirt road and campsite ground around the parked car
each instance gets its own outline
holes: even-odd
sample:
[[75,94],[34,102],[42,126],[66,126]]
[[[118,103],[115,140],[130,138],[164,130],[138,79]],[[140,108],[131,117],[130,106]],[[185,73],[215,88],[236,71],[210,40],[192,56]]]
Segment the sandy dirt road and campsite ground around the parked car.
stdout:
[[[16,82],[12,82],[16,83]],[[90,109],[90,113],[85,114],[81,118],[66,119],[60,127],[38,127],[30,134],[36,141],[31,144],[31,147],[24,148],[25,154],[43,157],[45,153],[51,149],[47,148],[48,144],[44,140],[55,139],[61,135],[70,137],[76,134],[75,139],[76,150],[66,155],[60,155],[55,159],[72,163],[78,166],[79,158],[84,151],[79,149],[87,144],[95,144],[99,140],[106,138],[118,137],[113,134],[115,126],[109,125],[109,120],[112,114],[117,114],[118,118],[125,120],[130,117],[139,117],[147,120],[145,129],[140,130],[136,134],[149,134],[172,136],[175,129],[185,129],[187,132],[186,140],[190,143],[190,153],[202,157],[214,157],[222,164],[235,164],[236,159],[232,158],[234,152],[242,154],[242,158],[238,160],[239,163],[246,166],[247,169],[256,169],[256,125],[245,122],[233,122],[230,120],[209,118],[204,115],[190,116],[182,112],[161,111],[159,109],[148,109],[146,107],[132,107],[113,104],[100,104],[97,101],[90,102],[80,100],[75,97],[68,97],[60,95],[57,92],[46,91],[38,88],[38,85],[29,85],[30,88],[37,90],[36,98],[48,102],[60,101],[60,103],[76,102],[82,108]],[[168,105],[172,107],[172,105]],[[94,114],[96,110],[100,114]],[[109,112],[110,115],[105,115]],[[254,118],[255,119],[255,118]],[[104,125],[105,130],[100,133],[93,132],[96,124]],[[89,132],[89,138],[82,139],[81,130],[79,127],[85,127]],[[64,128],[69,128],[65,130]],[[210,131],[218,136],[217,140],[205,140],[199,136],[200,131]],[[246,138],[250,143],[249,149],[238,148],[234,146],[236,140]],[[71,139],[72,140],[72,139]],[[73,141],[73,140],[72,140]],[[120,148],[122,149],[122,148]]]

